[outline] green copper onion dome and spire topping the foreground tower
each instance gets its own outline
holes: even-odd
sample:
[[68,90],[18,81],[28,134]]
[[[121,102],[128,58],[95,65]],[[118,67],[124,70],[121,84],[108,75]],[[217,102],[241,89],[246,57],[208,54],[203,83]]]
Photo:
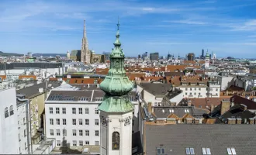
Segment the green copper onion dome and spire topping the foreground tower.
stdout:
[[110,69],[104,81],[100,84],[106,93],[99,110],[103,112],[132,112],[133,104],[128,93],[133,89],[133,83],[124,70],[124,53],[119,41],[119,22],[117,23],[115,48],[110,54]]

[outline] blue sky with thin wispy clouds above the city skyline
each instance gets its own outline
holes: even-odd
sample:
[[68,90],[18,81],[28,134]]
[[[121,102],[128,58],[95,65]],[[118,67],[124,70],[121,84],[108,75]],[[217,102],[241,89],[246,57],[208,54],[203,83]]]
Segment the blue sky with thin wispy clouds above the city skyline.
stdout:
[[0,50],[66,53],[81,48],[83,20],[96,53],[113,47],[116,22],[126,56],[255,57],[255,0],[0,0]]

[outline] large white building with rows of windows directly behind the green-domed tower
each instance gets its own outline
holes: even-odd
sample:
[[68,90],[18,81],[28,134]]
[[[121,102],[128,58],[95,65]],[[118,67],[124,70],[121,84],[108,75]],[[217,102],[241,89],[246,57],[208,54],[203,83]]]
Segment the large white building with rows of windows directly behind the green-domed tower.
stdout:
[[[60,87],[51,90],[45,101],[47,138],[54,138],[57,147],[99,146],[101,122],[97,107],[104,95],[97,84],[75,84],[72,87],[63,81]],[[136,91],[130,92],[130,99],[135,108],[133,132],[137,132]]]

